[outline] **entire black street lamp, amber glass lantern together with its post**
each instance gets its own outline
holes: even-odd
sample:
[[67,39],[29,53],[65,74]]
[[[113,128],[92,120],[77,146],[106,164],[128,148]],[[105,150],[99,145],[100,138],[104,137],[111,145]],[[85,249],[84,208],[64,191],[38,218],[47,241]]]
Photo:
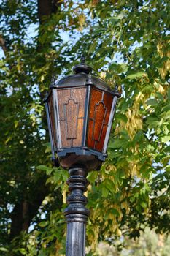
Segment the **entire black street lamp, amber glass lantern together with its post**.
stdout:
[[90,170],[100,170],[107,157],[107,144],[115,113],[116,86],[91,75],[92,68],[82,58],[74,75],[55,81],[45,99],[53,161],[69,170],[66,256],[85,255],[85,226],[90,211],[83,193]]

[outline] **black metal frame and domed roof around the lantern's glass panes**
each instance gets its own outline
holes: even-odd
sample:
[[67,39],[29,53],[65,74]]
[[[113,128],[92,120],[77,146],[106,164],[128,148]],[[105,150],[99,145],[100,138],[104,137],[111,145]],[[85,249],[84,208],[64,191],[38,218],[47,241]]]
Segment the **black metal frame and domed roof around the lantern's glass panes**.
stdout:
[[[61,128],[60,128],[60,121],[59,121],[59,111],[58,111],[58,95],[57,95],[57,89],[72,89],[72,88],[82,88],[87,87],[86,90],[86,98],[85,98],[85,121],[83,125],[83,133],[82,133],[82,146],[79,147],[71,147],[71,148],[63,148],[61,146]],[[89,103],[90,103],[90,90],[91,87],[95,87],[96,89],[99,89],[101,91],[107,91],[109,94],[112,94],[113,101],[112,101],[112,108],[109,116],[109,124],[107,127],[107,133],[104,140],[104,147],[102,152],[93,150],[89,148],[86,145],[86,134],[87,134],[87,127],[88,127],[88,110],[89,110]],[[111,90],[107,83],[105,83],[103,80],[96,78],[90,74],[76,74],[76,75],[69,75],[65,78],[62,78],[61,80],[55,82],[50,86],[50,94],[53,94],[53,108],[54,108],[54,118],[55,118],[55,138],[57,138],[57,148],[54,146],[53,143],[53,132],[51,129],[50,124],[50,114],[49,114],[49,106],[48,106],[48,99],[50,97],[50,94],[48,94],[47,98],[45,99],[45,108],[47,112],[47,123],[49,127],[49,133],[50,133],[50,143],[51,143],[51,150],[53,159],[55,159],[55,152],[57,153],[58,157],[65,157],[66,154],[69,153],[75,153],[77,155],[95,155],[98,157],[99,160],[102,162],[105,161],[107,157],[107,145],[109,141],[109,134],[112,128],[112,120],[114,118],[115,114],[115,107],[117,103],[117,97],[120,97],[120,94],[117,92],[117,89]]]

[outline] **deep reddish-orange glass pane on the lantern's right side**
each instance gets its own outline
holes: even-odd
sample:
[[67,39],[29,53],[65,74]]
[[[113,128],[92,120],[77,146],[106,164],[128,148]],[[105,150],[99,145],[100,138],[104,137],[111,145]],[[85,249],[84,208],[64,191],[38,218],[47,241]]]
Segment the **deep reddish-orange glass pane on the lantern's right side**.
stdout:
[[87,144],[89,148],[96,151],[103,151],[112,100],[112,94],[95,88],[91,89]]

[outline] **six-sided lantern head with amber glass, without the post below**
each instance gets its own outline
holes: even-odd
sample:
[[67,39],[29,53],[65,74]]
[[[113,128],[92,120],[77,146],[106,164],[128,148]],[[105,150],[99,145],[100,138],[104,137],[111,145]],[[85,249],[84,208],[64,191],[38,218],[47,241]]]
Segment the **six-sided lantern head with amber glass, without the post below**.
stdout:
[[55,81],[45,99],[53,160],[60,165],[99,170],[107,157],[107,144],[115,113],[115,87],[91,75],[84,60],[74,75]]

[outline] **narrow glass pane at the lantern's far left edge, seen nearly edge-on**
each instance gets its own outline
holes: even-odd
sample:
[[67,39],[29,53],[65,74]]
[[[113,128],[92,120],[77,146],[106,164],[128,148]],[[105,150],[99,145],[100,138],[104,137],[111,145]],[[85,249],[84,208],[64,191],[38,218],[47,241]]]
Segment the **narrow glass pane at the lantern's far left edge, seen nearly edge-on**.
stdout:
[[57,147],[57,140],[56,140],[56,131],[55,131],[55,121],[54,121],[54,108],[53,108],[53,94],[50,94],[49,102],[48,102],[48,109],[50,113],[50,124],[51,124],[51,133],[53,139],[53,145]]

